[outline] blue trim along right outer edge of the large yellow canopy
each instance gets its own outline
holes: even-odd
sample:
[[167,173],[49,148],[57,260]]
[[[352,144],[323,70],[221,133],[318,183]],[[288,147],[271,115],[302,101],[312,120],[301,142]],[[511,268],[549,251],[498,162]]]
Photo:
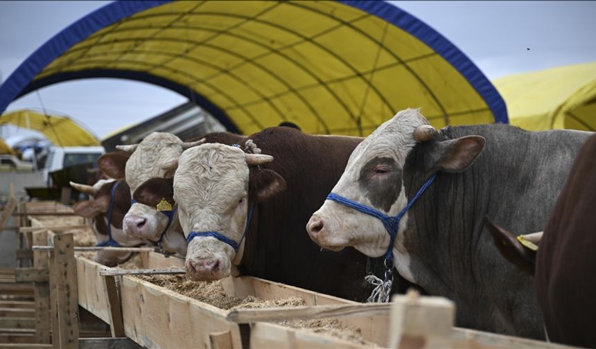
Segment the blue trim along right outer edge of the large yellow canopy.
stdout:
[[393,6],[385,1],[350,1],[338,0],[341,3],[369,12],[395,26],[405,30],[421,42],[427,44],[432,50],[437,52],[447,62],[449,62],[459,73],[464,75],[472,87],[482,96],[487,105],[493,112],[497,123],[509,123],[507,117],[507,107],[505,101],[498,93],[497,89],[487,79],[487,77],[478,69],[478,67],[452,44],[446,37],[439,34],[437,30],[428,26],[420,19],[409,13]]

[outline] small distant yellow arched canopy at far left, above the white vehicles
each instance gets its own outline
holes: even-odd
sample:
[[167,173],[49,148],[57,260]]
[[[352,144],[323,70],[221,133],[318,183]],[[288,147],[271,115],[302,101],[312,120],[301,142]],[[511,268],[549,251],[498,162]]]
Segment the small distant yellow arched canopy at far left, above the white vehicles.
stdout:
[[93,134],[67,116],[45,116],[35,111],[19,110],[0,117],[0,126],[8,124],[41,132],[60,147],[100,145]]

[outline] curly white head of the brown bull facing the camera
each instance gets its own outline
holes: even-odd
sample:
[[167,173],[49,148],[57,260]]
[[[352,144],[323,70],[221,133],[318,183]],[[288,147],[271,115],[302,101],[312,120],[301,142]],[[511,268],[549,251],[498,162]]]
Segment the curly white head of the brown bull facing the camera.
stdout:
[[[213,231],[240,243],[252,206],[286,188],[277,172],[250,170],[270,161],[272,156],[245,154],[238,147],[217,143],[182,153],[174,176],[174,198],[184,235]],[[236,251],[211,236],[193,238],[186,252],[186,275],[192,280],[229,276],[231,265],[240,263],[244,242]]]

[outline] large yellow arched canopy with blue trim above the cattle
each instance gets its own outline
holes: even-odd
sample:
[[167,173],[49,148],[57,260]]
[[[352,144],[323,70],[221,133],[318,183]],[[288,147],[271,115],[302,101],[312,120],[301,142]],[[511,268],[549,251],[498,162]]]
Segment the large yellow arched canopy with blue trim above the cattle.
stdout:
[[244,134],[288,120],[366,135],[407,107],[436,127],[507,123],[502,98],[466,55],[383,1],[116,1],[29,57],[0,87],[0,111],[29,91],[91,77],[173,89]]

